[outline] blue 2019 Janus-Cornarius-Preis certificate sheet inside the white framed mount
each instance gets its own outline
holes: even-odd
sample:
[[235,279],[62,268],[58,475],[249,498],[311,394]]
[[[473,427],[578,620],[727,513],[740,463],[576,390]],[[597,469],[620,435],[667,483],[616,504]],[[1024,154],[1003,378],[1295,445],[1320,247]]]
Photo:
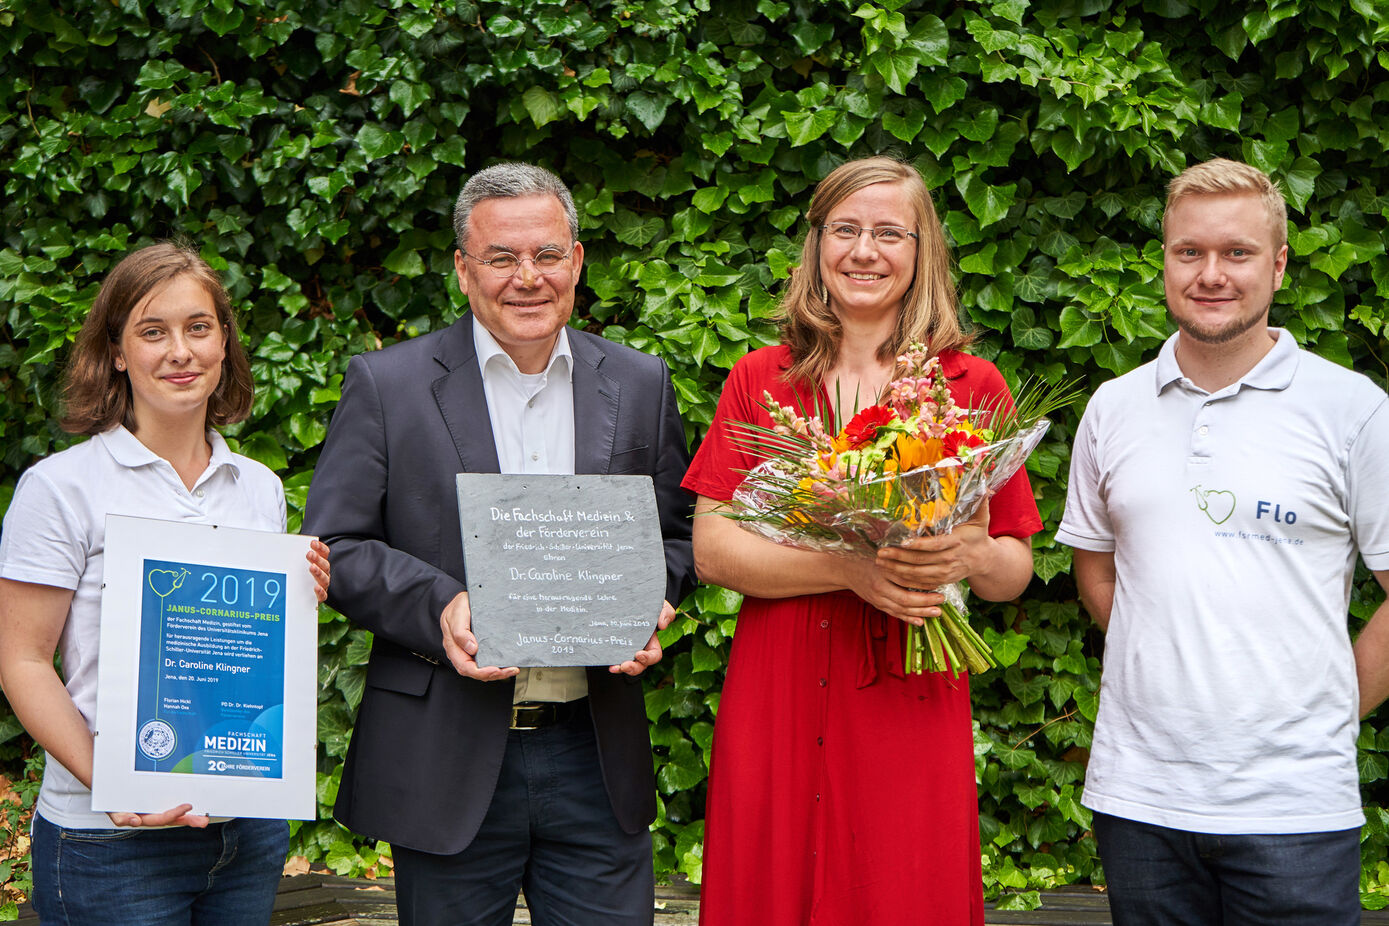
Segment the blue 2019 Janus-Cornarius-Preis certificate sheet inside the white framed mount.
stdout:
[[281,777],[285,573],[143,562],[135,769]]

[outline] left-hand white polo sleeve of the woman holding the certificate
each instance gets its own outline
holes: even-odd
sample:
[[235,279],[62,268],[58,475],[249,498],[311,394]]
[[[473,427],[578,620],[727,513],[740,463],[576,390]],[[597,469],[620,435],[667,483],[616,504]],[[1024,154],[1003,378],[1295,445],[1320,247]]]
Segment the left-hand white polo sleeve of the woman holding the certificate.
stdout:
[[76,589],[90,532],[58,487],[31,468],[19,478],[0,536],[0,578]]

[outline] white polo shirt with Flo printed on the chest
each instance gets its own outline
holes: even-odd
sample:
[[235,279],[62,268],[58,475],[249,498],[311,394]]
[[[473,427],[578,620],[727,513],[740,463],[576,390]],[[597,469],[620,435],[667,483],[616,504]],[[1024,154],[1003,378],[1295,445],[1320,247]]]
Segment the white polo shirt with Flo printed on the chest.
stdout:
[[1347,632],[1358,550],[1389,569],[1389,410],[1296,347],[1206,393],[1176,336],[1100,386],[1057,540],[1113,551],[1083,804],[1199,833],[1360,826]]

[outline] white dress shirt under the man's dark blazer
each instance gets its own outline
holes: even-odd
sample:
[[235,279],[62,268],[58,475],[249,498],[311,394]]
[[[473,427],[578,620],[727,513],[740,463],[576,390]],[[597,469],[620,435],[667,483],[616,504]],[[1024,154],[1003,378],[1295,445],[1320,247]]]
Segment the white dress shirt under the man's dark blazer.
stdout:
[[[476,317],[472,340],[501,472],[574,473],[574,354],[565,329],[539,373],[522,373]],[[521,669],[513,700],[574,701],[588,693],[582,668]]]

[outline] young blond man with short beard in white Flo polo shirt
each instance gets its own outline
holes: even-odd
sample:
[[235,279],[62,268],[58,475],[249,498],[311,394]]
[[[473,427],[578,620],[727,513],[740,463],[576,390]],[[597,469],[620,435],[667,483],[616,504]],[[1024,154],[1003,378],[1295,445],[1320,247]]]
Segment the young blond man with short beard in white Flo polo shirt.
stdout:
[[1085,805],[1118,926],[1360,922],[1389,607],[1354,646],[1346,615],[1357,551],[1389,587],[1389,403],[1268,328],[1286,226],[1247,164],[1172,180],[1178,332],[1075,439],[1057,539],[1106,630]]

